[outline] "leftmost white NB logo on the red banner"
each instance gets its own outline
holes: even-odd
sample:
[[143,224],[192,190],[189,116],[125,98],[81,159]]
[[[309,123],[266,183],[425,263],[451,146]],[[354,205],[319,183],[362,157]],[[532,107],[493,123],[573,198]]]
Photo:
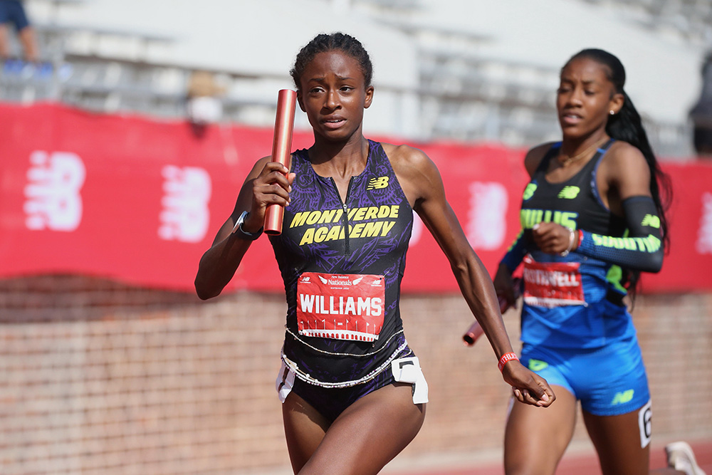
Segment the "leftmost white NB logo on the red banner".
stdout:
[[84,163],[71,152],[30,155],[25,185],[25,226],[33,231],[70,232],[82,221],[81,189],[86,177]]

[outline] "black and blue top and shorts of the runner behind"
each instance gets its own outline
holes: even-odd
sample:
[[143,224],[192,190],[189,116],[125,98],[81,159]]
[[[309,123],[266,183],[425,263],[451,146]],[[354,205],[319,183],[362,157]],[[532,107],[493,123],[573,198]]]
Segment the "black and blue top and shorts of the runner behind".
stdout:
[[545,155],[525,189],[521,211],[528,255],[524,259],[521,361],[565,387],[585,412],[613,416],[639,411],[642,447],[649,442],[650,392],[632,318],[622,303],[622,271],[575,251],[565,257],[539,251],[527,236],[535,224],[554,221],[571,229],[623,236],[625,220],[598,195],[596,172],[613,140],[565,182],[546,170],[560,143]]

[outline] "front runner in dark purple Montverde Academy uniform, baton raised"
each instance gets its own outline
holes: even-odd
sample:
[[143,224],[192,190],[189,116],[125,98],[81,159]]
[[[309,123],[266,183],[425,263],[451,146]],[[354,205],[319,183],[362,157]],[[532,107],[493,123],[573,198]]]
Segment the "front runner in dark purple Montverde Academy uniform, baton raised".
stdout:
[[551,404],[545,380],[512,351],[494,286],[434,163],[362,135],[374,89],[361,43],[316,36],[292,76],[314,145],[293,153],[291,169],[258,160],[201,258],[195,286],[201,298],[218,295],[261,234],[266,207],[286,206],[282,234],[270,239],[287,298],[276,383],[295,473],[376,474],[422,425],[427,386],[399,313],[413,211],[449,259],[518,400]]

